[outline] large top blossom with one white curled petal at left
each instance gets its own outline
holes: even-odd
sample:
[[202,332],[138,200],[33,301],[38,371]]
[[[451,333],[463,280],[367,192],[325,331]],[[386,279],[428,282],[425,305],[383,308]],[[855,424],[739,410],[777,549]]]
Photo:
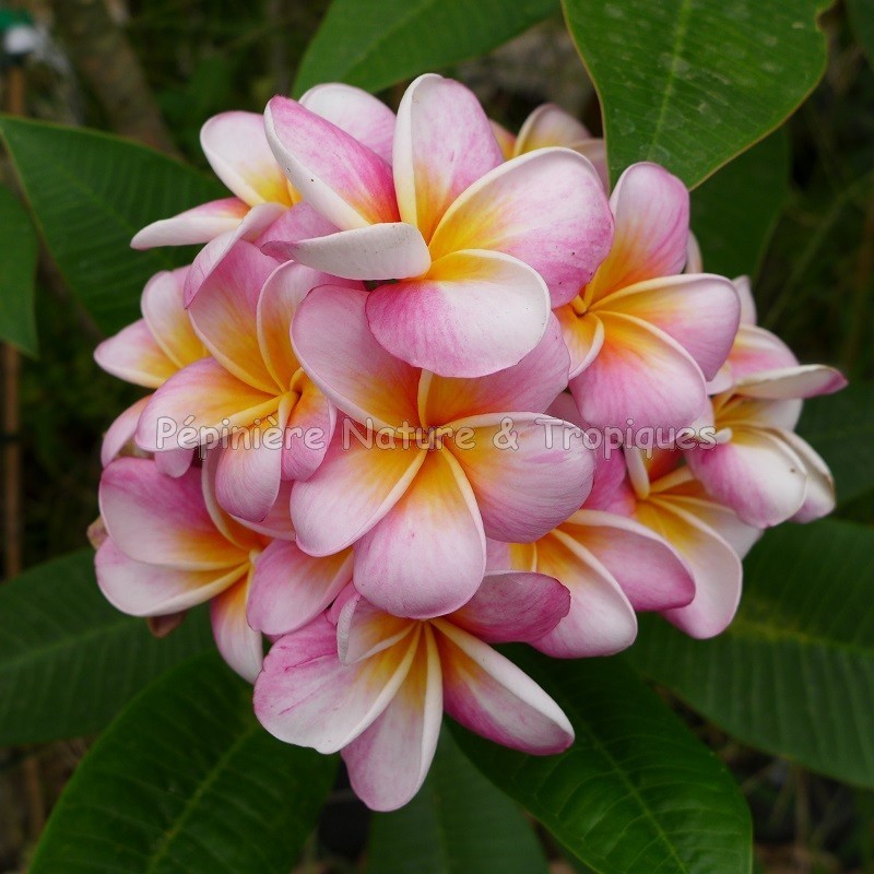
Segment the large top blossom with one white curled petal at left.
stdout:
[[458,82],[427,74],[410,85],[391,165],[285,97],[270,102],[265,123],[292,184],[339,228],[290,239],[285,256],[373,283],[370,329],[414,366],[475,377],[518,364],[550,307],[570,300],[610,248],[591,164],[565,149],[504,163]]

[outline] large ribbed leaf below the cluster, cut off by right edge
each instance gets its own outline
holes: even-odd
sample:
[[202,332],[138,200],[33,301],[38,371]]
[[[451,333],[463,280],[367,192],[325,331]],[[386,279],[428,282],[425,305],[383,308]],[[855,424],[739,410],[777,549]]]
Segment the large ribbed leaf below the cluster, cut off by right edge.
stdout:
[[635,663],[743,743],[874,786],[874,530],[823,520],[769,531],[744,590],[712,640],[646,617]]

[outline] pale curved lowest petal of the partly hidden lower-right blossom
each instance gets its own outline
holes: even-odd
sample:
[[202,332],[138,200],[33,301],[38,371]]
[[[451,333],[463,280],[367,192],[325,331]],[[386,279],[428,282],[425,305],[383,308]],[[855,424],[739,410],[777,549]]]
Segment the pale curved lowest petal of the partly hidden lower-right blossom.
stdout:
[[669,499],[643,501],[636,516],[677,550],[695,577],[692,603],[662,615],[695,638],[724,631],[741,600],[743,569],[734,550],[713,529]]

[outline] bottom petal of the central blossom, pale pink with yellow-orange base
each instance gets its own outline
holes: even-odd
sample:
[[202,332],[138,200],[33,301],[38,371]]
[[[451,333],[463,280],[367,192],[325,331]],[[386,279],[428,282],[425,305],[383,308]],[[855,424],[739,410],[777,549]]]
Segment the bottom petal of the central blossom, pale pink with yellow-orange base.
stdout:
[[427,452],[403,497],[355,544],[355,588],[394,616],[427,618],[469,601],[484,572],[471,487],[449,452]]

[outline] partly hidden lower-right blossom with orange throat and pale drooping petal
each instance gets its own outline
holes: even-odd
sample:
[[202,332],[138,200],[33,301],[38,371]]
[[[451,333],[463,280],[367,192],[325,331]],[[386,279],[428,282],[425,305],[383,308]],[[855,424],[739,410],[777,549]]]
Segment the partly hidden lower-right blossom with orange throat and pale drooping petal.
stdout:
[[692,637],[720,634],[737,611],[741,557],[758,539],[758,529],[708,495],[680,450],[656,450],[647,458],[626,447],[625,457],[633,517],[676,550],[695,580],[692,602],[662,615]]

